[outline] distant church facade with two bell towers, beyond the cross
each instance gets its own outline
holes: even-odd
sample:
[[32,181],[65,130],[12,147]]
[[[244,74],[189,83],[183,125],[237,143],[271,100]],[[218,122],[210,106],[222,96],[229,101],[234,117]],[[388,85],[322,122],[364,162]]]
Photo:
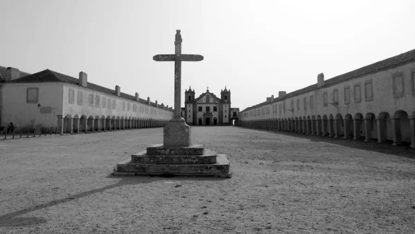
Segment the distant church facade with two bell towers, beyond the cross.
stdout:
[[221,97],[216,97],[209,89],[195,98],[195,92],[189,87],[185,90],[185,108],[183,118],[189,125],[219,126],[231,124],[230,90],[221,90]]

